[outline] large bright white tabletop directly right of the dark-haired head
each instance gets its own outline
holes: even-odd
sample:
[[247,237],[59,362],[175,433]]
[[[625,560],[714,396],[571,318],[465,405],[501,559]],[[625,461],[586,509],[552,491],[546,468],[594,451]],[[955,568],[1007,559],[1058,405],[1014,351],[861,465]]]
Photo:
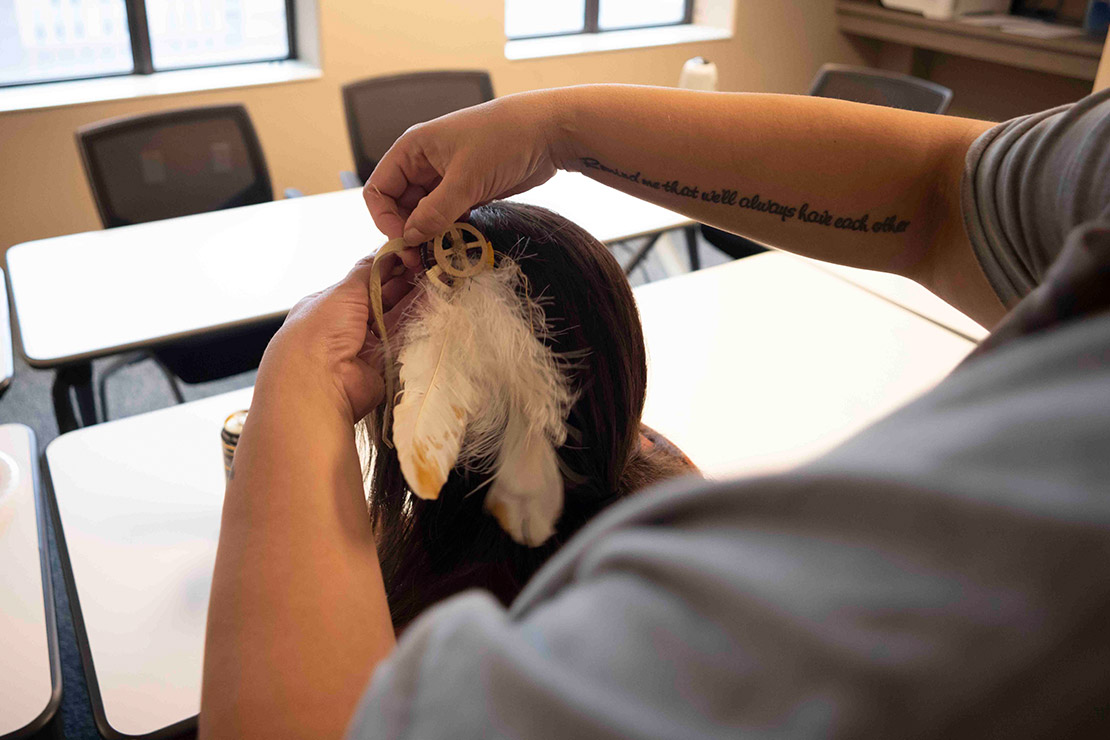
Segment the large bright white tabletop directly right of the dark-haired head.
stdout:
[[644,422],[714,477],[773,473],[920,395],[975,345],[769,252],[636,291]]

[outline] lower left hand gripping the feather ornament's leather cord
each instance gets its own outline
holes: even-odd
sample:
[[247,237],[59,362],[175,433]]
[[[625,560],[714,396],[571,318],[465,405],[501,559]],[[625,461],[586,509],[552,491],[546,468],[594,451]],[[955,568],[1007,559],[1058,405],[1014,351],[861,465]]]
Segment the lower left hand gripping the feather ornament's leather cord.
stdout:
[[[342,281],[293,306],[266,347],[259,386],[278,385],[276,394],[322,388],[351,423],[381,403],[380,342],[371,331],[373,264],[374,256],[363,257]],[[415,270],[397,254],[383,257],[382,303],[387,326],[395,325],[408,305]]]

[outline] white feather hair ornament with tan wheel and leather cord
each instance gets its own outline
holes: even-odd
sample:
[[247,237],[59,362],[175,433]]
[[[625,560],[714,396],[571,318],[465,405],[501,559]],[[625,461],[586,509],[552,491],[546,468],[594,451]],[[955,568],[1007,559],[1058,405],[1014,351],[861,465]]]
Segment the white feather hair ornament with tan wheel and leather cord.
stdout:
[[[393,240],[379,256],[402,249]],[[437,498],[455,468],[488,476],[485,508],[516,543],[538,546],[563,509],[555,450],[574,401],[564,363],[543,342],[543,306],[516,262],[504,254],[495,262],[490,241],[471,224],[453,224],[422,247],[422,294],[400,328],[395,359],[377,261],[371,272],[385,355],[381,438],[392,442],[408,489],[421,498]]]

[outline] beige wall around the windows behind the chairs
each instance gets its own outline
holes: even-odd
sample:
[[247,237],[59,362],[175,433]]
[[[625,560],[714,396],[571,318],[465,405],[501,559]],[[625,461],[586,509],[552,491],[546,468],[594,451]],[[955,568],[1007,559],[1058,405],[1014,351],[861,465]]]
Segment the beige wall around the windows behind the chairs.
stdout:
[[[352,169],[340,88],[418,69],[488,69],[497,94],[585,82],[675,84],[683,61],[717,62],[723,90],[804,92],[828,61],[859,62],[836,31],[833,0],[744,0],[729,40],[507,61],[504,0],[320,0],[320,80],[0,113],[0,249],[100,227],[73,131],[102,119],[189,105],[243,102],[275,192],[339,189]],[[803,11],[799,7],[804,6]]]

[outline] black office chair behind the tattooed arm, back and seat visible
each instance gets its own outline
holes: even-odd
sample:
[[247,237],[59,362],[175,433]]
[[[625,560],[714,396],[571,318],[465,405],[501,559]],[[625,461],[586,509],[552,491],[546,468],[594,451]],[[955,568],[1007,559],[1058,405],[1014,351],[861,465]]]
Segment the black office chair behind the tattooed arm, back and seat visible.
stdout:
[[[938,114],[948,110],[948,104],[952,101],[952,91],[936,82],[847,64],[821,67],[809,88],[809,94]],[[705,224],[702,225],[702,235],[718,250],[737,260],[767,251],[758,242]]]

